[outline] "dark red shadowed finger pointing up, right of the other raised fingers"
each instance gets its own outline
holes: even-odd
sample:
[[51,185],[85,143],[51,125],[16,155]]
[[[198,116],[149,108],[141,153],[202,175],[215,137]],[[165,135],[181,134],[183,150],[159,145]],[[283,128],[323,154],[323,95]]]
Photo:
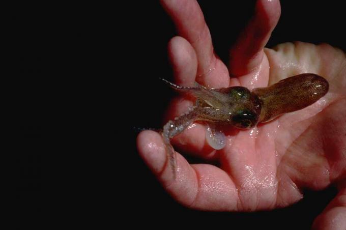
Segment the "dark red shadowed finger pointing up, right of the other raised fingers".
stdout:
[[233,76],[246,75],[260,67],[264,51],[280,17],[279,0],[258,0],[255,15],[230,50],[229,72]]

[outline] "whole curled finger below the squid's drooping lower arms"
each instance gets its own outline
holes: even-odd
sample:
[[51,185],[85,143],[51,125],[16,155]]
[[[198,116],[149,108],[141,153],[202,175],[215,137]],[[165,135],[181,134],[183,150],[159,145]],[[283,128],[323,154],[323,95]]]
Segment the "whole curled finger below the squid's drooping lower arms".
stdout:
[[174,180],[160,134],[141,132],[137,148],[163,187],[182,205],[203,210],[237,210],[237,188],[221,169],[206,164],[190,165],[176,153],[177,177]]

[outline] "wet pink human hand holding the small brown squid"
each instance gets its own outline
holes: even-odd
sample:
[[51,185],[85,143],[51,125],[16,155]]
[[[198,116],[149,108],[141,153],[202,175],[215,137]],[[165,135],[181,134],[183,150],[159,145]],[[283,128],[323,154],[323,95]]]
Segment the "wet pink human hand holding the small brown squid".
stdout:
[[[175,180],[161,135],[141,132],[137,138],[139,154],[166,191],[193,209],[255,211],[289,206],[303,198],[304,188],[322,190],[334,184],[339,193],[313,227],[346,229],[345,54],[328,44],[302,42],[264,48],[280,17],[280,3],[258,0],[246,33],[230,50],[227,67],[213,51],[208,26],[196,1],[165,0],[161,4],[179,32],[168,44],[175,83],[179,85],[189,86],[196,80],[212,88],[241,85],[253,89],[300,73],[321,75],[330,85],[327,95],[318,102],[272,122],[250,130],[224,127],[227,143],[222,150],[208,147],[205,126],[193,124],[172,140],[174,147],[219,161],[221,167],[189,164],[176,153]],[[166,121],[192,104],[191,98],[175,98]]]

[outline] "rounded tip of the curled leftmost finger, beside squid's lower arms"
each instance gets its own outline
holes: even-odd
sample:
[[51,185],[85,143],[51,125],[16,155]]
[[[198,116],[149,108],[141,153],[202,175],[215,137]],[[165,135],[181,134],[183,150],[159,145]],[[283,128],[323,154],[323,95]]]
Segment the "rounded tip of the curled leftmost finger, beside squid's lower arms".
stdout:
[[137,136],[137,149],[154,174],[159,174],[163,170],[166,164],[166,153],[159,133],[151,130],[140,132]]

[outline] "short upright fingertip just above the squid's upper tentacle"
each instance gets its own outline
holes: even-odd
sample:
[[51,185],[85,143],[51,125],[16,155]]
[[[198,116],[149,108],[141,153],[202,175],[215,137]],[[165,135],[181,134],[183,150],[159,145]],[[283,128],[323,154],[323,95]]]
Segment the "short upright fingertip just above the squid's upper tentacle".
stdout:
[[176,36],[168,43],[168,55],[175,82],[191,86],[197,73],[197,56],[192,45],[185,38]]

